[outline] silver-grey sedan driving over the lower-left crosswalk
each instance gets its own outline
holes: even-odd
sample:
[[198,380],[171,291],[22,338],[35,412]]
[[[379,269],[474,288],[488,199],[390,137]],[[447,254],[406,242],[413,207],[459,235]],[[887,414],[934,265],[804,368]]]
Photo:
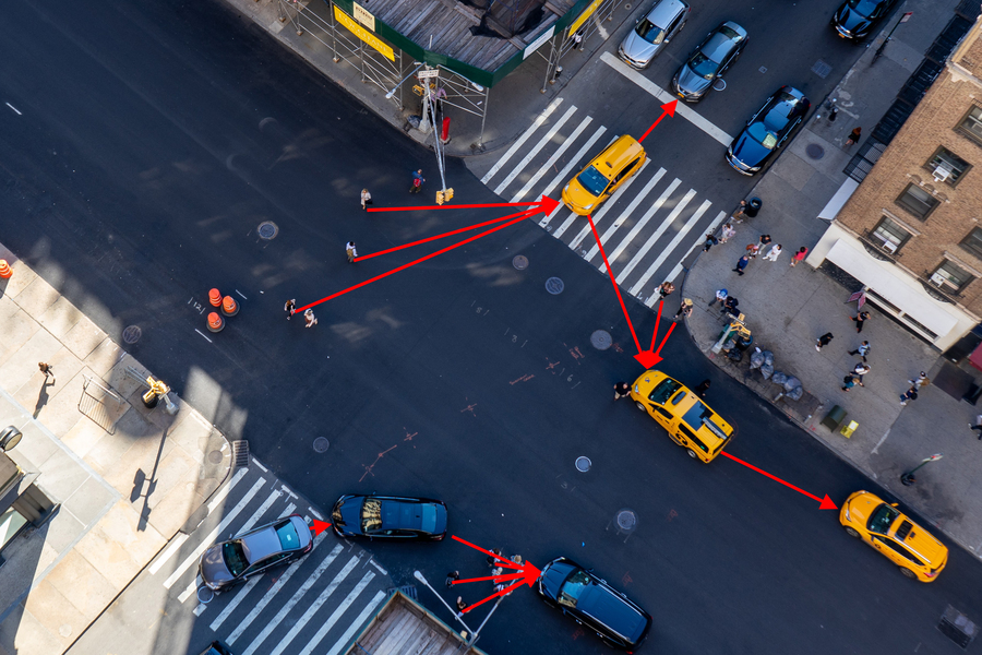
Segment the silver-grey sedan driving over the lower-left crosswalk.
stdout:
[[218,592],[272,569],[300,559],[313,548],[313,534],[300,514],[249,531],[209,546],[197,570],[202,581]]

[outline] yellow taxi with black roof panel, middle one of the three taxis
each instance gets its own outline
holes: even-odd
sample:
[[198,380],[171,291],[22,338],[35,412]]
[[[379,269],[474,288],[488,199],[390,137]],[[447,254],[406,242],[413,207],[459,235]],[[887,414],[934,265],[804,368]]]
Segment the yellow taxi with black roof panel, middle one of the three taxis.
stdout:
[[645,371],[634,381],[631,397],[694,460],[711,462],[733,436],[733,426],[687,386],[661,371]]

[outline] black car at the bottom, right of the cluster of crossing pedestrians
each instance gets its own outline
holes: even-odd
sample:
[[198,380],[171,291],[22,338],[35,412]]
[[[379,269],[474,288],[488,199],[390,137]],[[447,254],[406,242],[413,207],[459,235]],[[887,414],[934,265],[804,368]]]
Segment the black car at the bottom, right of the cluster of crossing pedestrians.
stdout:
[[597,633],[608,645],[633,653],[648,635],[651,617],[621,592],[564,557],[546,564],[539,594],[548,605]]

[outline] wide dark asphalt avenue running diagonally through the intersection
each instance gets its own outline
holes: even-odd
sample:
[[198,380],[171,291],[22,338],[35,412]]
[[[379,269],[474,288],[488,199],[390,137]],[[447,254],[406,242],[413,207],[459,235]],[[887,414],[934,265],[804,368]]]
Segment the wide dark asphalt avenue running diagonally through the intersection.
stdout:
[[[347,240],[367,254],[501,213],[362,213],[362,187],[380,205],[429,204],[431,155],[223,5],[22,0],[4,17],[0,92],[20,114],[0,106],[0,239],[110,333],[140,325],[133,354],[322,509],[345,492],[442,498],[452,534],[594,567],[655,617],[651,653],[942,653],[946,606],[982,607],[971,556],[953,549],[937,582],[908,581],[835,512],[728,460],[693,462],[612,402],[640,368],[610,281],[534,222],[320,305],[311,330],[288,322],[287,298],[439,248],[352,265]],[[429,181],[412,196],[418,167]],[[447,177],[462,202],[496,200],[459,162]],[[200,312],[212,287],[244,297],[217,335]],[[647,347],[655,314],[625,302]],[[708,402],[739,429],[730,453],[837,503],[876,488],[721,378],[681,327],[663,368],[712,381]],[[614,345],[594,348],[596,330]],[[622,509],[638,517],[630,535],[611,525]],[[487,571],[450,539],[367,547],[395,584]],[[177,652],[187,635],[158,639]],[[527,588],[479,645],[606,652]]]

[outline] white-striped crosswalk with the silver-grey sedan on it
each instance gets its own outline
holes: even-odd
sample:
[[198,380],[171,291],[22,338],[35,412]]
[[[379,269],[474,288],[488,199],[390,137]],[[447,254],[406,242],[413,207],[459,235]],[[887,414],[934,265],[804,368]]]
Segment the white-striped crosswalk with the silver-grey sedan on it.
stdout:
[[[298,509],[298,504],[300,509]],[[196,617],[237,655],[337,655],[357,636],[392,586],[387,571],[330,529],[307,556],[212,596],[201,588],[197,562],[204,550],[233,535],[299,513],[324,521],[314,509],[255,460],[239,468],[207,504],[208,517],[191,535],[180,533],[151,563],[180,607]],[[211,526],[211,527],[209,527]],[[201,590],[201,599],[199,591]],[[202,599],[207,600],[203,603]],[[169,610],[170,611],[170,610]]]

